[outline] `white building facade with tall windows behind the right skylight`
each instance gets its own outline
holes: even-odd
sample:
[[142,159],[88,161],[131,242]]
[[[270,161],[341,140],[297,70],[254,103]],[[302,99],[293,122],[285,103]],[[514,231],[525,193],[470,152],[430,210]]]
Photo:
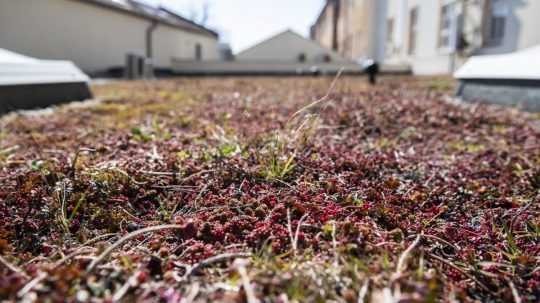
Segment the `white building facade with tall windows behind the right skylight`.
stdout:
[[540,1],[389,0],[386,64],[451,74],[472,55],[540,44]]

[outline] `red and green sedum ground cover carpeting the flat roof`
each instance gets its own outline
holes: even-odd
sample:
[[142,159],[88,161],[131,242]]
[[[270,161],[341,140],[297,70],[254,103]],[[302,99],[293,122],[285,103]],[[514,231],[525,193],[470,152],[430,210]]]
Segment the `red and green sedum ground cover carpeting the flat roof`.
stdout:
[[0,299],[538,302],[540,116],[334,80],[118,82],[2,118]]

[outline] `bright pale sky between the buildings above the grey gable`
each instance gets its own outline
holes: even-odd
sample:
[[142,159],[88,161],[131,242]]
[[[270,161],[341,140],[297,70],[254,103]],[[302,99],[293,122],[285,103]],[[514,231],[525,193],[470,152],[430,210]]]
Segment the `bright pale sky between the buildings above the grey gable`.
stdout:
[[144,0],[178,11],[200,21],[208,4],[207,26],[220,33],[223,42],[238,53],[286,29],[306,37],[324,0]]

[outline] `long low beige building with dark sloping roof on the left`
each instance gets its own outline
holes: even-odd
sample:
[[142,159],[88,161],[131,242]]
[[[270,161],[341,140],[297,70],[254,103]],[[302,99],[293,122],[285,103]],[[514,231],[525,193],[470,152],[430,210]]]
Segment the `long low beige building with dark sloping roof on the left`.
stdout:
[[215,32],[134,0],[0,0],[0,47],[91,75],[122,75],[128,54],[165,71],[173,59],[219,58]]

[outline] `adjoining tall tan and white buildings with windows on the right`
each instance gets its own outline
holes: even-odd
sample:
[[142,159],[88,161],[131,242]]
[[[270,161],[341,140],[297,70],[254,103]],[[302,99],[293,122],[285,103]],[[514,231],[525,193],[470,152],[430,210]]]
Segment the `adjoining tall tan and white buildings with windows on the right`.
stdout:
[[387,69],[451,74],[470,56],[540,44],[540,1],[327,0],[311,37]]

